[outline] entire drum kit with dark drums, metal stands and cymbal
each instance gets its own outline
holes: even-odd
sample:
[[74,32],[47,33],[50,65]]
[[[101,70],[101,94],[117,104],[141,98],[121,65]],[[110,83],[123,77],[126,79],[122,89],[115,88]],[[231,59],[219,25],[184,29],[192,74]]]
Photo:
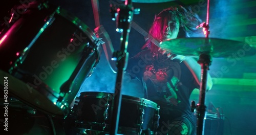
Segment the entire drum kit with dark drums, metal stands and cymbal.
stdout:
[[[126,0],[117,12],[117,26],[122,29],[123,38],[121,50],[115,53],[119,69],[115,94],[82,92],[79,97],[82,82],[99,62],[102,39],[77,17],[47,1],[33,1],[18,8],[12,9],[9,23],[0,33],[0,77],[5,79],[0,85],[5,94],[1,105],[8,106],[8,115],[3,119],[5,130],[11,130],[12,123],[17,123],[12,129],[15,134],[72,134],[73,130],[75,134],[156,133],[159,106],[144,98],[120,95],[133,16],[131,1]],[[196,108],[201,134],[206,108],[204,80],[211,57],[228,57],[234,50],[250,47],[238,41],[208,37],[169,40],[160,47],[174,54],[200,56],[201,102]],[[255,50],[250,48],[246,56],[254,54]],[[72,131],[60,131],[61,125]]]

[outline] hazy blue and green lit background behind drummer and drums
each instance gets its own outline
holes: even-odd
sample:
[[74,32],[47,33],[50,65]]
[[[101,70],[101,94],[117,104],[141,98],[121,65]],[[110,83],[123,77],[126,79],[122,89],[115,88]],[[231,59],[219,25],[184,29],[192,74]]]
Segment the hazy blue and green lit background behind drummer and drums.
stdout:
[[[91,1],[51,1],[56,5],[68,10],[77,16],[91,30],[94,30],[94,17]],[[1,18],[9,16],[8,11],[20,1],[1,1]],[[119,5],[123,1],[99,0],[100,24],[109,33],[115,50],[120,48],[120,33],[116,32],[116,22],[112,20],[110,13],[110,3]],[[133,21],[142,29],[148,31],[154,20],[154,15],[169,6],[183,4],[193,7],[202,20],[206,20],[207,1],[172,1],[166,3],[133,3],[134,8],[140,8],[141,12],[134,15]],[[256,47],[256,1],[253,0],[227,0],[210,2],[210,35],[209,37],[246,41],[252,47]],[[194,35],[204,37],[203,34]],[[15,40],[15,39],[14,39]],[[129,36],[129,46],[127,51],[130,56],[140,51],[145,40],[135,29],[131,29]],[[232,50],[232,48],[230,48]],[[223,50],[225,51],[225,50]],[[237,53],[238,50],[232,50]],[[221,113],[225,115],[224,134],[255,134],[256,132],[256,60],[255,56],[236,59],[232,64],[225,58],[214,58],[209,73],[214,79],[214,86],[206,94],[206,104],[214,103],[216,107],[222,108]],[[1,58],[2,59],[2,58]],[[225,70],[223,70],[225,69]],[[114,92],[115,74],[110,70],[106,62],[104,53],[101,54],[100,62],[91,77],[81,86],[80,92]],[[133,91],[132,89],[131,91]],[[135,89],[136,90],[136,89]],[[79,93],[78,93],[79,95]],[[198,102],[199,91],[195,89],[191,95],[191,100]],[[218,126],[222,126],[220,121],[215,122],[211,130],[216,134],[221,131]],[[209,129],[210,130],[210,129]],[[219,132],[217,132],[219,131]]]

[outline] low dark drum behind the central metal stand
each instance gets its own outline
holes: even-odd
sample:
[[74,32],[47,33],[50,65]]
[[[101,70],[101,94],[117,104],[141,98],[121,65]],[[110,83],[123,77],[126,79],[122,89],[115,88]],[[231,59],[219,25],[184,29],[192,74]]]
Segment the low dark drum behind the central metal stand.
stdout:
[[[82,92],[73,107],[76,131],[109,134],[114,94]],[[119,134],[154,134],[158,127],[159,106],[150,100],[122,95]],[[79,129],[79,130],[78,130]]]

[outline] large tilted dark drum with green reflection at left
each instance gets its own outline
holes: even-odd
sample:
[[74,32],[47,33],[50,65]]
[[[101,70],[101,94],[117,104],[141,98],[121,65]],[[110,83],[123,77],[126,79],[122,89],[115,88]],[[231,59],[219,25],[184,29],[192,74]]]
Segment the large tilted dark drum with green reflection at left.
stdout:
[[78,18],[46,2],[12,9],[0,34],[0,77],[18,100],[66,117],[82,82],[99,61],[99,39]]

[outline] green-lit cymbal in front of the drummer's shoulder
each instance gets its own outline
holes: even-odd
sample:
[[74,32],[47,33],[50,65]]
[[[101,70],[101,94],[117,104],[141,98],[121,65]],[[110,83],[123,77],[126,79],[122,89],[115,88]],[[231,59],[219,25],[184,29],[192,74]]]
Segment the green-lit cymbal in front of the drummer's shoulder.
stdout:
[[219,38],[177,38],[161,42],[160,48],[178,55],[199,56],[204,53],[214,58],[241,58],[256,54],[256,49],[245,42]]

